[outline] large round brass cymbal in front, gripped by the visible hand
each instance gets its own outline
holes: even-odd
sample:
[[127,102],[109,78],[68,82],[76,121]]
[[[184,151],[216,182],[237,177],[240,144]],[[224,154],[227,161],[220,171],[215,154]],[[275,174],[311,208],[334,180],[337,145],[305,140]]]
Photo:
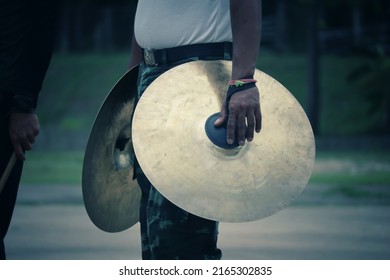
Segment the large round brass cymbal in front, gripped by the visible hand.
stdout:
[[197,61],[169,70],[142,95],[133,117],[137,160],[171,202],[221,222],[259,220],[284,209],[307,185],[314,135],[293,95],[256,70],[262,130],[243,147],[223,149],[205,133],[220,111],[231,62]]

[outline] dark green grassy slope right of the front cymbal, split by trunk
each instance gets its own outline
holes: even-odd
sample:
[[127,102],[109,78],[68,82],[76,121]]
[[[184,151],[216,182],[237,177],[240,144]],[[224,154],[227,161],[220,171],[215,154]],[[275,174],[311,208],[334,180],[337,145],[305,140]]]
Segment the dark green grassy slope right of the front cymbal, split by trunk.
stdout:
[[[378,114],[367,115],[368,103],[348,82],[350,73],[365,58],[359,56],[323,55],[320,58],[319,134],[351,136],[372,131]],[[258,68],[281,82],[307,111],[308,60],[304,54],[265,53]]]

